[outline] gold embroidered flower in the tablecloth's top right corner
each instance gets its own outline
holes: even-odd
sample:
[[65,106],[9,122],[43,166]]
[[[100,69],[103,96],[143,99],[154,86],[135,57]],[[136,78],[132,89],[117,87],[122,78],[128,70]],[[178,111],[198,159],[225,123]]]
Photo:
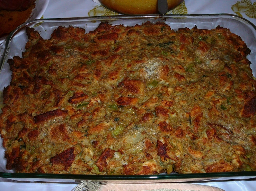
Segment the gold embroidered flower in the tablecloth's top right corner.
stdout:
[[237,1],[231,9],[242,17],[241,13],[245,13],[247,17],[256,19],[256,2],[251,3],[250,0]]

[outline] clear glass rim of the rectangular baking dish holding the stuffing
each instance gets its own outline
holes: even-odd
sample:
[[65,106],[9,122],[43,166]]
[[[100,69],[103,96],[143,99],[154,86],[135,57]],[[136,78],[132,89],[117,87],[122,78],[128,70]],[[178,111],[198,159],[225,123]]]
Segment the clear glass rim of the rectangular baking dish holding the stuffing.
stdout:
[[[14,31],[12,31],[6,39],[5,49],[2,54],[1,62],[0,62],[0,73],[3,68],[3,64],[8,55],[9,44],[11,40],[15,37],[15,34],[19,32],[19,30],[25,28],[29,24],[32,23],[41,23],[41,22],[76,22],[76,21],[106,21],[106,20],[114,20],[114,19],[165,19],[165,18],[175,18],[175,19],[185,19],[185,18],[218,18],[218,17],[228,17],[234,19],[241,19],[252,26],[256,31],[256,26],[250,22],[249,20],[239,17],[234,14],[147,14],[147,15],[115,15],[115,16],[97,16],[97,17],[73,17],[73,18],[50,18],[50,19],[35,19],[27,21],[17,27]],[[4,42],[3,42],[4,43]],[[241,171],[241,172],[213,172],[213,173],[191,173],[191,174],[156,174],[156,175],[91,175],[91,174],[42,174],[42,173],[12,173],[12,172],[1,172],[1,178],[33,178],[33,179],[74,179],[74,180],[175,180],[175,179],[198,179],[198,178],[225,178],[225,177],[256,177],[256,171]],[[200,181],[200,180],[197,180]]]

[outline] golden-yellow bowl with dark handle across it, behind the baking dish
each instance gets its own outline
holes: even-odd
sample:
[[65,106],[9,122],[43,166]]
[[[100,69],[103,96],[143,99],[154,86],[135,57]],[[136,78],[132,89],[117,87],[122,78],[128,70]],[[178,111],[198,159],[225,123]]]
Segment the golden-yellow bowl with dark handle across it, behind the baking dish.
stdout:
[[[99,0],[106,8],[121,14],[158,14],[157,0]],[[184,0],[167,0],[168,10]]]

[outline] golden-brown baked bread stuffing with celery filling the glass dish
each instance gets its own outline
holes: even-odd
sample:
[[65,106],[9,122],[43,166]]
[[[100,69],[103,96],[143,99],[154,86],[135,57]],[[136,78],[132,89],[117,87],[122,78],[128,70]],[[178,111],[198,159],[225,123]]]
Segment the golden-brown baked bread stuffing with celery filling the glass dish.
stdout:
[[250,50],[228,29],[27,28],[8,60],[7,169],[72,174],[256,170]]

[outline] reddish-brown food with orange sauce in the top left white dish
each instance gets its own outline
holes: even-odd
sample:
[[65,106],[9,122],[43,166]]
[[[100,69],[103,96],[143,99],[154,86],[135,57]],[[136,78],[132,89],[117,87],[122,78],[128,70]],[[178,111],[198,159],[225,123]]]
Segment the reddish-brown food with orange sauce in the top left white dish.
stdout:
[[0,38],[8,35],[20,24],[24,23],[32,13],[35,4],[25,11],[0,11]]

